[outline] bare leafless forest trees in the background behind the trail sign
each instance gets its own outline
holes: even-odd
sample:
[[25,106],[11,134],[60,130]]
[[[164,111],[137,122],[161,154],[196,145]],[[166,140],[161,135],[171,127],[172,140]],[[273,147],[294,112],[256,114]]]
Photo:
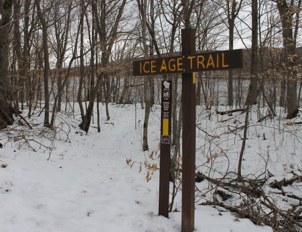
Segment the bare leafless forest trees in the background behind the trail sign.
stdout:
[[[77,105],[80,129],[88,133],[96,106],[102,133],[99,104],[110,120],[110,104],[138,103],[145,110],[142,149],[148,151],[149,115],[160,103],[160,81],[173,79],[171,173],[178,173],[180,76],[135,77],[132,61],[179,53],[180,31],[192,27],[196,51],[245,49],[243,69],[196,73],[196,105],[209,112],[228,106],[217,110],[221,115],[246,112],[242,158],[248,112],[256,109],[259,122],[274,119],[280,108],[287,120],[299,115],[300,10],[301,0],[0,0],[0,128],[12,125],[13,115],[26,124],[38,111],[44,127],[55,130],[58,113]],[[178,180],[172,180],[177,191]]]

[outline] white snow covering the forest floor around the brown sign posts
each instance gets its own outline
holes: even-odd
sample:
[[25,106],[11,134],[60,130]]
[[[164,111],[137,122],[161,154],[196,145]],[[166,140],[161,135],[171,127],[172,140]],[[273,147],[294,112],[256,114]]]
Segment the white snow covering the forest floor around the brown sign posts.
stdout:
[[[48,129],[40,133],[43,129],[43,120],[39,117],[28,120],[35,124],[33,129],[37,130],[34,132],[26,126],[17,125],[12,126],[16,129],[14,131],[0,132],[0,142],[4,145],[3,149],[0,149],[0,164],[6,166],[0,168],[0,231],[181,230],[181,212],[170,213],[169,219],[158,216],[159,171],[154,172],[149,182],[146,182],[144,167],[139,172],[139,163],[148,160],[148,152],[144,153],[141,149],[144,110],[139,105],[137,109],[134,105],[111,105],[111,119],[108,122],[105,121],[105,108],[102,107],[101,113],[100,133],[97,133],[94,127],[90,128],[88,134],[81,131],[78,127],[80,123],[78,112],[75,117],[72,114],[60,115],[57,118],[56,134]],[[154,106],[149,126],[150,151],[158,149],[159,115],[160,106]],[[96,118],[94,120],[96,122]],[[260,129],[256,129],[256,132],[262,133]],[[269,132],[263,133],[266,133],[267,138],[270,137]],[[284,139],[286,140],[286,137]],[[260,139],[255,140],[256,143],[259,141]],[[200,153],[200,156],[196,160],[196,165],[207,159],[207,151],[203,153],[200,151],[208,148],[208,145],[206,146],[200,139],[197,139],[197,144],[196,148],[199,149],[197,153]],[[236,144],[231,146],[234,156],[238,155],[241,143]],[[298,142],[292,144],[300,146]],[[265,151],[266,147],[263,147]],[[275,150],[277,149],[278,147]],[[253,148],[247,149],[245,157],[250,157],[247,160],[256,160],[253,151],[255,151]],[[300,151],[298,152],[297,148],[291,151],[297,152],[298,157],[293,160],[293,165],[301,167]],[[127,165],[127,158],[136,161],[132,168]],[[284,156],[283,159],[288,161]],[[270,169],[274,173],[280,169],[280,177],[284,175],[282,174],[284,165],[281,161],[280,164],[272,162],[276,164],[276,169]],[[236,165],[234,158],[233,166]],[[259,166],[259,161],[244,163],[244,173]],[[204,168],[206,171],[209,167]],[[301,187],[297,187],[296,191],[299,193]],[[180,197],[181,193],[178,194],[174,207],[179,211],[181,211]],[[197,204],[195,230],[273,231],[271,227],[256,226],[250,220],[237,218],[223,209]]]

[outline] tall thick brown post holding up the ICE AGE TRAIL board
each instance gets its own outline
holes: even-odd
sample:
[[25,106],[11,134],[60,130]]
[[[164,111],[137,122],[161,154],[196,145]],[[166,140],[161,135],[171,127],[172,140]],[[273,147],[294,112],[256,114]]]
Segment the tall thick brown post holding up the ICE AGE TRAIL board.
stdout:
[[[181,30],[182,55],[195,53],[195,30]],[[186,70],[185,70],[186,71]],[[195,200],[195,136],[196,136],[196,89],[195,73],[182,73],[182,210],[181,231],[194,230]]]

